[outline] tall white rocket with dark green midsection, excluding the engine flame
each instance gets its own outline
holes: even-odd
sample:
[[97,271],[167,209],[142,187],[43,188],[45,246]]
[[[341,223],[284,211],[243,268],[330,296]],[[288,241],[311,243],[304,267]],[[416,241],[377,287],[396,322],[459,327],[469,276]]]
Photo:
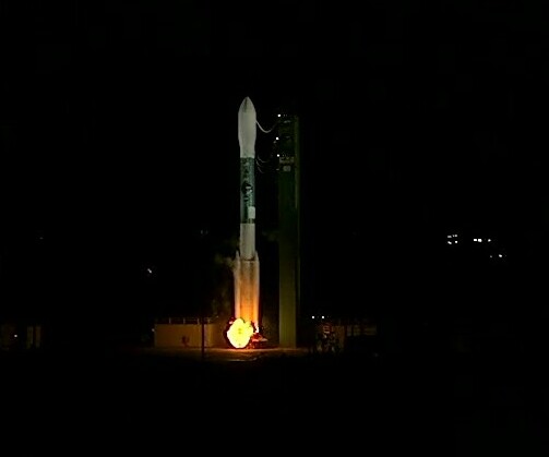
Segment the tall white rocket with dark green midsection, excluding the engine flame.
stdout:
[[255,107],[246,97],[238,109],[240,145],[240,239],[235,260],[235,317],[260,327],[259,256],[255,251]]

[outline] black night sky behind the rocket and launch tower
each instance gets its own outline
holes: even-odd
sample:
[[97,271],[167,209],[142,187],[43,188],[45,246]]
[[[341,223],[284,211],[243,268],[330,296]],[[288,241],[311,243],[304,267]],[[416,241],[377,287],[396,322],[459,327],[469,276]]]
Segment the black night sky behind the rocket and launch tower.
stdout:
[[[88,3],[1,5],[4,315],[195,313],[235,252],[246,96],[265,129],[281,108],[301,122],[306,310],[440,303],[454,231],[542,270],[541,7]],[[256,179],[268,290],[275,188]]]

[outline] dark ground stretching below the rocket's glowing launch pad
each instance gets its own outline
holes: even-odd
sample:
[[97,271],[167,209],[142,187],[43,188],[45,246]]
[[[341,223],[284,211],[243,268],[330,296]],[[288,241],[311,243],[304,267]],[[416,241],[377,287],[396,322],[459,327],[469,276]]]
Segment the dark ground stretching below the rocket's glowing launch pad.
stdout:
[[234,441],[266,447],[260,454],[290,445],[324,454],[547,450],[547,387],[518,360],[148,348],[4,353],[0,362],[14,431],[123,436],[138,447],[146,437],[181,453]]

